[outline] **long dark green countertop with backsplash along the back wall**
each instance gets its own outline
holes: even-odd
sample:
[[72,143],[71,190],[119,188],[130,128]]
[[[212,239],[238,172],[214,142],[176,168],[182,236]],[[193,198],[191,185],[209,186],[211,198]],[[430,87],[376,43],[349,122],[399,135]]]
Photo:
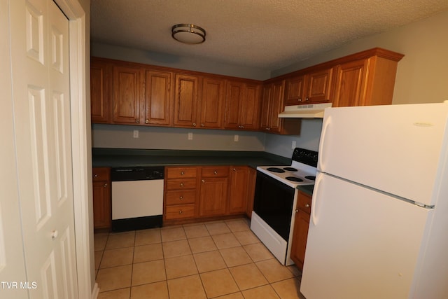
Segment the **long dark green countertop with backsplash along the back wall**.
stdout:
[[262,151],[188,151],[92,148],[93,167],[290,165],[291,159]]

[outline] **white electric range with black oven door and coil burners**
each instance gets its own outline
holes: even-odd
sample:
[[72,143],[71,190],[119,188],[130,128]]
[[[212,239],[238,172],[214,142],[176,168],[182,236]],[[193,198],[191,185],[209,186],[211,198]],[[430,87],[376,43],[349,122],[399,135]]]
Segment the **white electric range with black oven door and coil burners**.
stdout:
[[257,167],[251,230],[283,265],[292,265],[297,187],[314,185],[318,152],[295,148],[291,165]]

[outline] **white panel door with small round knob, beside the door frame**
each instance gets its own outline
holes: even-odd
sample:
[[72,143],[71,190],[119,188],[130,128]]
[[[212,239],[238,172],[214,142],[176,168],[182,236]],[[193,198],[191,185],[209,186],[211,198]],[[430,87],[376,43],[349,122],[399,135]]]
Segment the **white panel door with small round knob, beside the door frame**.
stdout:
[[[29,298],[77,298],[69,21],[51,0],[10,1],[18,190]],[[33,288],[32,286],[36,286]]]

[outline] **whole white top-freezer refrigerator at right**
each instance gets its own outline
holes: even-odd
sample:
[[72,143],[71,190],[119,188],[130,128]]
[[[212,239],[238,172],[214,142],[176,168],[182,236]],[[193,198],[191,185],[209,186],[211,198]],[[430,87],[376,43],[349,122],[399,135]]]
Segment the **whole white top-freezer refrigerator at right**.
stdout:
[[300,292],[448,298],[448,102],[325,109]]

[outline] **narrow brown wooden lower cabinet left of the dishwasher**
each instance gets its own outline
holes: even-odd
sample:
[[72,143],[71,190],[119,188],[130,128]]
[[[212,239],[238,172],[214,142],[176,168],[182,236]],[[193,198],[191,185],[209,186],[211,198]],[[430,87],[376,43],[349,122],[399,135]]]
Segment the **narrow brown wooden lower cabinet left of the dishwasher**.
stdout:
[[111,169],[94,167],[93,179],[93,227],[94,229],[111,228]]

